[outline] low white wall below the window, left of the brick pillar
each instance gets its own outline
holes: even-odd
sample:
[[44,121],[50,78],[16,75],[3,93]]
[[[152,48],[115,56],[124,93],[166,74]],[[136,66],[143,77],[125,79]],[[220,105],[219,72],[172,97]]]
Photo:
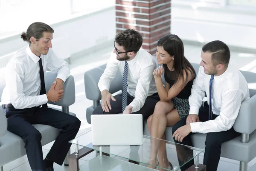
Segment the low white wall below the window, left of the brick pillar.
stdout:
[[[76,53],[100,48],[113,40],[116,34],[115,7],[105,8],[80,17],[52,24],[52,49],[63,59]],[[28,45],[14,35],[0,39],[0,68],[5,67],[13,53]],[[99,47],[96,47],[99,46]]]

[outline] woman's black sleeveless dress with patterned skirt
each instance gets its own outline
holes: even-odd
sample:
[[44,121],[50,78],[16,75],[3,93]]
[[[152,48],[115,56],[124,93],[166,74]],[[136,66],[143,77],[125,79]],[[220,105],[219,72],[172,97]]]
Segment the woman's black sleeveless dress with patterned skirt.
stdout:
[[[166,64],[164,67],[164,78],[167,83],[170,84],[170,88],[174,85],[174,71],[170,71]],[[189,115],[189,96],[191,95],[193,80],[189,81],[181,92],[172,99],[172,103],[179,113],[180,119]]]

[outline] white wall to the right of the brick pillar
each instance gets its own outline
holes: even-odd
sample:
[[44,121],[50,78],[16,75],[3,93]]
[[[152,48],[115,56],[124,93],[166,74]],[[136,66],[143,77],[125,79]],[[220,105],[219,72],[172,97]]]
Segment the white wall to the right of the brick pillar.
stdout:
[[200,0],[172,0],[171,32],[183,40],[256,50],[256,7],[221,5]]

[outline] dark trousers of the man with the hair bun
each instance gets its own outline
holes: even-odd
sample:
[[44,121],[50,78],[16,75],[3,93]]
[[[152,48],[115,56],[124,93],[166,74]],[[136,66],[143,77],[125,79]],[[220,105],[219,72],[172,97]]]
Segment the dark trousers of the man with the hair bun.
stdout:
[[70,149],[70,140],[76,137],[81,121],[67,113],[47,108],[3,109],[6,112],[8,131],[20,136],[24,143],[32,171],[46,171],[44,165],[41,133],[32,124],[50,125],[62,129],[47,154],[47,159],[62,165]]

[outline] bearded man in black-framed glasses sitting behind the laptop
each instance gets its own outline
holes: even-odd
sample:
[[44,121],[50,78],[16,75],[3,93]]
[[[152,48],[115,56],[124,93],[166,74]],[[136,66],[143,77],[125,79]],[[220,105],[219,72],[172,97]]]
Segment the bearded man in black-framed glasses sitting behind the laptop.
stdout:
[[[134,29],[116,34],[113,53],[98,83],[102,104],[93,114],[138,113],[143,119],[153,114],[160,101],[152,74],[156,62],[141,48],[142,42],[142,36]],[[123,75],[122,94],[113,97],[108,90],[118,70]]]

